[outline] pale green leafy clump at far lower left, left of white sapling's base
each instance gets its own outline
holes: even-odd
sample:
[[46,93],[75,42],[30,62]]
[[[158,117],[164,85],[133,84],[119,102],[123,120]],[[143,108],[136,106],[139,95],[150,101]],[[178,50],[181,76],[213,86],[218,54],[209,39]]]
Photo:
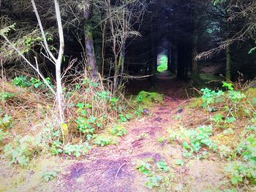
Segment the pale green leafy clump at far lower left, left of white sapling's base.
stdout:
[[34,155],[42,148],[41,140],[34,137],[16,138],[13,144],[4,146],[4,155],[10,159],[10,164],[26,166]]

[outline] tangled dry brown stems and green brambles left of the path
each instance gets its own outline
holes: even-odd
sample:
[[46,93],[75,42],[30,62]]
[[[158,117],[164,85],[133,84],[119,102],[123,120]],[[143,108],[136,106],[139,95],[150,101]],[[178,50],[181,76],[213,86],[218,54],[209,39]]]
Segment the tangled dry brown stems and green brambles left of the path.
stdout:
[[[55,86],[50,78],[46,80],[50,86]],[[113,95],[104,81],[91,80],[87,74],[72,78],[64,88],[66,122],[61,126],[55,115],[54,96],[42,81],[20,75],[10,83],[5,82],[4,92],[0,94],[1,153],[10,160],[10,164],[26,166],[42,151],[79,157],[88,153],[91,147],[115,145],[118,140],[115,137],[127,134],[121,123],[142,115],[143,108],[138,101],[130,104],[121,93]],[[23,104],[27,105],[26,111],[15,114]],[[37,113],[30,116],[33,112]],[[41,118],[37,120],[34,116]],[[29,126],[23,127],[24,131],[18,130],[18,119],[35,122],[37,131],[30,132]],[[15,134],[10,133],[11,128]],[[28,136],[23,137],[25,133]]]

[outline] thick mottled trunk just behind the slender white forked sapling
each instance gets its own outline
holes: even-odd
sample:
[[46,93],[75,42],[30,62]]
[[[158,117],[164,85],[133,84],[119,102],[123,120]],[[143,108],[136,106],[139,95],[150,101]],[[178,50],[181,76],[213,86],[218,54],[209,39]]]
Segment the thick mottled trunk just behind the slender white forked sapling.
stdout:
[[90,67],[91,76],[97,80],[98,78],[98,66],[95,58],[94,51],[94,39],[91,29],[91,13],[92,9],[89,6],[83,14],[83,18],[85,18],[85,26],[84,26],[84,36],[85,36],[85,45],[86,45],[86,58],[88,65]]

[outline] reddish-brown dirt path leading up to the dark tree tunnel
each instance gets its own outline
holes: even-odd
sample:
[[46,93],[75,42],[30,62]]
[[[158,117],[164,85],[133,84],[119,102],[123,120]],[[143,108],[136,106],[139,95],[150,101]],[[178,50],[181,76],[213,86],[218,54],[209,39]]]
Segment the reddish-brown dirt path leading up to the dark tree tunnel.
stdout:
[[157,142],[167,134],[167,128],[176,123],[172,116],[185,100],[165,97],[165,104],[154,107],[151,115],[127,123],[128,134],[118,145],[97,147],[83,161],[67,167],[56,186],[60,191],[148,191],[145,177],[135,169],[136,161],[152,158],[168,161],[181,154],[181,147],[170,147]]

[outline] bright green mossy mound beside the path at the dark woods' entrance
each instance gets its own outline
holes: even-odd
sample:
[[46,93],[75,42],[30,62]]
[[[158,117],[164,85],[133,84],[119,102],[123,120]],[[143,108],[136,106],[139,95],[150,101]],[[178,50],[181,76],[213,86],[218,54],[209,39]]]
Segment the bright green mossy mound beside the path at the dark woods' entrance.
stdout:
[[143,106],[152,106],[156,103],[163,103],[163,96],[159,93],[149,93],[146,91],[140,91],[136,97],[136,102],[142,104]]

